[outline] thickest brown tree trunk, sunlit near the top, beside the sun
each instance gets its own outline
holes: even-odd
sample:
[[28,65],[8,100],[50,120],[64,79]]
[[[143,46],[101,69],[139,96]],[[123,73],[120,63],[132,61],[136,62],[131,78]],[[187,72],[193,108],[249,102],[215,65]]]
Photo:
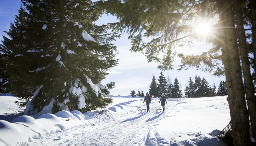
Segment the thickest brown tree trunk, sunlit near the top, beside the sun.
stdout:
[[226,86],[231,117],[233,144],[248,146],[251,144],[249,115],[243,92],[240,58],[236,43],[236,30],[230,0],[218,0],[219,17],[221,20],[222,56],[226,75]]

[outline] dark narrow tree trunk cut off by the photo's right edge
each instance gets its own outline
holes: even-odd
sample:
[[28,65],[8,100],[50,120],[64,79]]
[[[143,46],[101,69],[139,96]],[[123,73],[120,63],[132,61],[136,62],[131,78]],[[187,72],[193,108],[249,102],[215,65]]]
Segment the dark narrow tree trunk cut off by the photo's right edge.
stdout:
[[251,27],[252,27],[252,51],[253,51],[253,62],[254,71],[256,71],[256,1],[249,0],[251,9]]

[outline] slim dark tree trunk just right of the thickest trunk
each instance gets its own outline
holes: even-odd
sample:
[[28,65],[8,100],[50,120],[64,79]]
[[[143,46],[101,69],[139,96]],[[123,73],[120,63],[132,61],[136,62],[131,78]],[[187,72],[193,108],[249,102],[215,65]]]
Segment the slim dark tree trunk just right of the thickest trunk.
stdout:
[[237,38],[239,42],[240,56],[242,60],[242,69],[244,74],[244,88],[248,105],[248,112],[251,119],[251,128],[253,136],[256,137],[256,98],[254,96],[254,86],[252,84],[250,62],[246,48],[246,36],[244,32],[244,21],[241,10],[242,2],[236,0],[234,8],[236,11]]

